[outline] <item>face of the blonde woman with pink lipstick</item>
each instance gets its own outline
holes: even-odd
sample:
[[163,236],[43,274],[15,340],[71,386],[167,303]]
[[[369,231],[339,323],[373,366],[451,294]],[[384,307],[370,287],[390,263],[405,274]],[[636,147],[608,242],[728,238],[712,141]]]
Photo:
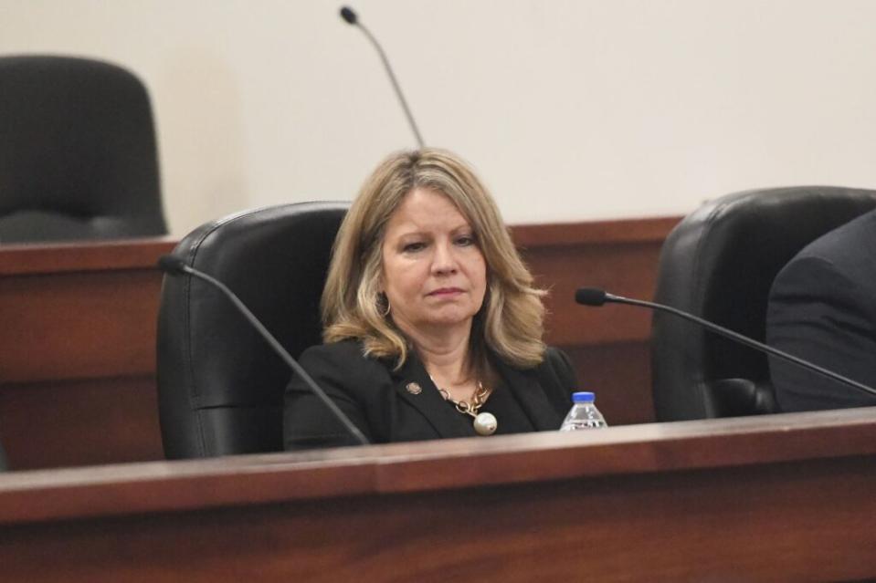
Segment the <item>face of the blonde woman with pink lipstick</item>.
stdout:
[[487,268],[465,217],[442,193],[417,188],[389,218],[382,245],[383,291],[408,335],[470,327]]

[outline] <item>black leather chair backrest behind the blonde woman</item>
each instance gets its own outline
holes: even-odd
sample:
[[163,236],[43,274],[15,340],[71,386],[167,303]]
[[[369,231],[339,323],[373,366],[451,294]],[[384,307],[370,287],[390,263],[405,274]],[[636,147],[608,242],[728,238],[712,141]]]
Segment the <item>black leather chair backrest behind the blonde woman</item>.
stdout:
[[[322,341],[320,297],[348,203],[284,204],[204,224],[174,255],[225,283],[298,357]],[[158,318],[164,455],[283,449],[286,364],[212,286],[165,276]]]

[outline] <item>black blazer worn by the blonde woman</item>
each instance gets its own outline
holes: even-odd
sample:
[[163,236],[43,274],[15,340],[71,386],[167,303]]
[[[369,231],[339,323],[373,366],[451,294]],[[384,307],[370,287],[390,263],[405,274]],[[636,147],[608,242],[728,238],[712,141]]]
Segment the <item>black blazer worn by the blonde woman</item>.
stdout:
[[[500,359],[493,359],[493,365],[503,381],[500,390],[512,391],[536,431],[559,429],[576,387],[575,370],[565,353],[548,349],[542,364],[532,370],[516,369]],[[462,414],[441,397],[416,355],[394,371],[391,361],[365,358],[359,342],[345,340],[305,350],[301,366],[370,442],[475,435],[470,421],[460,422]],[[407,389],[410,383],[421,390],[412,393]],[[298,378],[286,389],[283,425],[286,450],[355,444]]]

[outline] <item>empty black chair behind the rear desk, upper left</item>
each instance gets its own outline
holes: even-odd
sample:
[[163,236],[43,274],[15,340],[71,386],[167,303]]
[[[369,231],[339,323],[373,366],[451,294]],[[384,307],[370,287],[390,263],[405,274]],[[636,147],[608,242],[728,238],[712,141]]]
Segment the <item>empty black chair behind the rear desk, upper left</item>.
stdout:
[[0,244],[164,233],[140,80],[84,58],[0,58]]

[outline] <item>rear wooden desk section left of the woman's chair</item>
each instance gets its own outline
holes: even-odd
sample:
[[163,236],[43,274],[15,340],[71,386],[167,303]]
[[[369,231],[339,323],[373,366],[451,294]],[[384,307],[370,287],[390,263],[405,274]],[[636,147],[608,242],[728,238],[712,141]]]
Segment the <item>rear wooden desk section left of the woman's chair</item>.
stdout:
[[0,246],[0,440],[12,467],[163,457],[155,261],[173,247]]

